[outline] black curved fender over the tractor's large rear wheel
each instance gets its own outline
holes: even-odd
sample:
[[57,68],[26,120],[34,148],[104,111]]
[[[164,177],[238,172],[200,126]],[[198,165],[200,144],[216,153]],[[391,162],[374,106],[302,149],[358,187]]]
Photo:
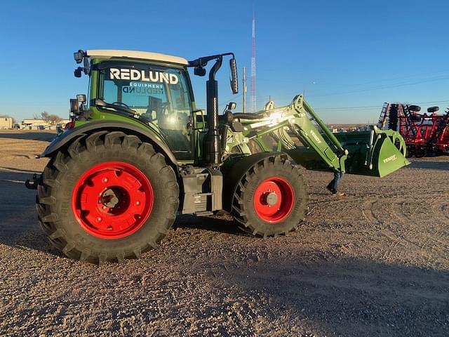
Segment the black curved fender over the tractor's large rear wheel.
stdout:
[[102,130],[123,131],[124,133],[138,136],[143,141],[149,141],[149,143],[152,143],[157,150],[166,155],[168,160],[171,161],[171,164],[177,166],[177,160],[173,155],[173,152],[170,151],[168,145],[166,145],[161,138],[139,126],[123,123],[123,121],[89,121],[86,124],[69,129],[62,133],[58,138],[55,138],[39,157],[53,157],[55,152],[60,150],[60,148],[69,145],[69,143],[72,143],[72,140]]

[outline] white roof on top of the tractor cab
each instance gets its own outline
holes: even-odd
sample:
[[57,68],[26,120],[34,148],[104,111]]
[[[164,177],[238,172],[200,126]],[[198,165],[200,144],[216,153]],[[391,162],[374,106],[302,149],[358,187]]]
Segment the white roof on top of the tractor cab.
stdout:
[[165,55],[160,53],[149,53],[147,51],[119,51],[115,49],[93,49],[86,51],[90,58],[140,58],[141,60],[163,61],[188,65],[185,58]]

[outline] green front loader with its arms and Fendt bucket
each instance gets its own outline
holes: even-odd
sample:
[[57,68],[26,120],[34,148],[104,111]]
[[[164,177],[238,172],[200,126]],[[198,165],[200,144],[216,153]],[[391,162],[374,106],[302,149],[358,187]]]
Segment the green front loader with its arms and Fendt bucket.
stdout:
[[272,151],[272,145],[264,141],[269,135],[276,140],[278,152],[286,152],[306,169],[382,177],[410,164],[403,138],[395,131],[374,127],[370,132],[331,133],[303,95],[295,96],[286,107],[268,106],[252,117],[235,114],[245,141],[232,136],[227,148],[239,145],[248,151],[253,140],[262,151]]

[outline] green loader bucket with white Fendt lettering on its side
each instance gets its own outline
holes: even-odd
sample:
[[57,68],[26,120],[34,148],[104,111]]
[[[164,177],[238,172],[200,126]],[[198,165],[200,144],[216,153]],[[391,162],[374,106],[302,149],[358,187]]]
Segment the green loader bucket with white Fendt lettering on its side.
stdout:
[[349,152],[344,164],[347,173],[382,178],[410,164],[406,159],[406,143],[396,131],[374,127],[368,132],[335,136]]

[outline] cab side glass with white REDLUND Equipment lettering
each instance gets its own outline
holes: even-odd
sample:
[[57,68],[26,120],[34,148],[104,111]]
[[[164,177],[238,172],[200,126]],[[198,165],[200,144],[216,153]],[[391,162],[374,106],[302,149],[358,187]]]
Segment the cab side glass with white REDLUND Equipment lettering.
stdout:
[[159,129],[177,159],[192,158],[187,130],[192,101],[185,70],[131,64],[100,70],[98,98],[135,111]]

